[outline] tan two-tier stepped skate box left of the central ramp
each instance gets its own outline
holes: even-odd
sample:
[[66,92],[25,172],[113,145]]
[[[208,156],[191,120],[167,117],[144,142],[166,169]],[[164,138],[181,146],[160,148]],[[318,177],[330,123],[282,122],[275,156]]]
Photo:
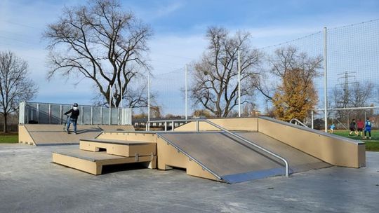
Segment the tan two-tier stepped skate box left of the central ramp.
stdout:
[[[107,139],[112,135],[112,139]],[[157,167],[157,143],[151,134],[112,133],[96,139],[81,139],[79,149],[61,149],[53,152],[53,162],[90,174],[102,174],[102,166],[126,163],[141,163],[149,169]],[[127,137],[131,140],[127,140]],[[145,137],[146,136],[146,137]],[[114,139],[116,138],[116,139]]]

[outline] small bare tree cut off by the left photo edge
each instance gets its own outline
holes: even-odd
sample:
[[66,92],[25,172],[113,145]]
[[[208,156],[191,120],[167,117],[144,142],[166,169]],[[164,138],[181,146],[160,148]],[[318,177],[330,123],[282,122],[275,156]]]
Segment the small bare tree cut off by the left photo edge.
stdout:
[[27,62],[12,52],[0,52],[0,114],[7,132],[8,116],[18,110],[21,101],[36,96],[38,88],[29,78]]

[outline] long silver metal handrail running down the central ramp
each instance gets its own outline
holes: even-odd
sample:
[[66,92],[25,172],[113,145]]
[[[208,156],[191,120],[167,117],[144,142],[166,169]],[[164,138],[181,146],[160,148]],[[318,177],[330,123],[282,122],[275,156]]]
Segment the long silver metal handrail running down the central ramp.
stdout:
[[[247,144],[250,144],[251,146],[254,146],[255,148],[260,149],[261,151],[264,151],[265,153],[268,153],[271,156],[274,156],[275,158],[278,158],[279,160],[283,161],[284,164],[286,165],[286,177],[288,177],[288,175],[289,175],[289,165],[288,165],[288,161],[285,158],[279,156],[277,153],[273,153],[272,151],[263,148],[262,146],[259,146],[258,144],[255,144],[255,143],[249,141],[248,139],[246,139],[244,137],[241,137],[240,135],[237,135],[237,134],[235,134],[233,132],[230,132],[229,130],[223,128],[222,126],[220,126],[218,124],[215,124],[215,123],[213,123],[211,121],[208,121],[206,119],[147,121],[147,123],[146,123],[146,130],[147,131],[149,131],[149,123],[152,123],[152,122],[164,122],[164,124],[165,124],[165,132],[167,131],[167,123],[171,123],[172,124],[171,131],[173,131],[174,128],[175,128],[174,127],[174,122],[187,122],[187,123],[189,123],[189,122],[195,122],[195,124],[196,124],[196,127],[195,127],[196,132],[199,132],[199,123],[200,122],[208,123],[209,125],[212,125],[213,127],[218,128],[222,132],[226,132],[227,134],[232,135],[233,137],[237,137],[238,139],[241,139],[242,141],[246,142]],[[166,141],[167,141],[167,139],[166,139]]]

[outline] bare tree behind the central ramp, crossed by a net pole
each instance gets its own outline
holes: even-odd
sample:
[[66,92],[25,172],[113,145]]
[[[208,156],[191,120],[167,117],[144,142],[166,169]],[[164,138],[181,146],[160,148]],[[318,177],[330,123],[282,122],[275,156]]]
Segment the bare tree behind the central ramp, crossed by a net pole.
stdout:
[[260,63],[260,52],[250,47],[250,37],[246,32],[230,36],[224,28],[208,28],[208,48],[201,60],[194,64],[194,83],[190,88],[194,104],[200,104],[216,117],[228,116],[237,106],[238,50],[241,56],[241,104],[249,101],[254,92],[249,83],[256,74],[254,68]]

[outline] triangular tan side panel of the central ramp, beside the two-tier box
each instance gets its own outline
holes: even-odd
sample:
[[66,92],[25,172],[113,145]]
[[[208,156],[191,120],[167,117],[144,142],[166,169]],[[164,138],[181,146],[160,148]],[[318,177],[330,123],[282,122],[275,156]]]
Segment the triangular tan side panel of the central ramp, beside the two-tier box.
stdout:
[[180,167],[186,169],[189,175],[220,181],[213,174],[204,170],[201,165],[191,160],[185,153],[182,153],[160,137],[157,139],[157,161],[159,170],[167,170],[168,167]]

